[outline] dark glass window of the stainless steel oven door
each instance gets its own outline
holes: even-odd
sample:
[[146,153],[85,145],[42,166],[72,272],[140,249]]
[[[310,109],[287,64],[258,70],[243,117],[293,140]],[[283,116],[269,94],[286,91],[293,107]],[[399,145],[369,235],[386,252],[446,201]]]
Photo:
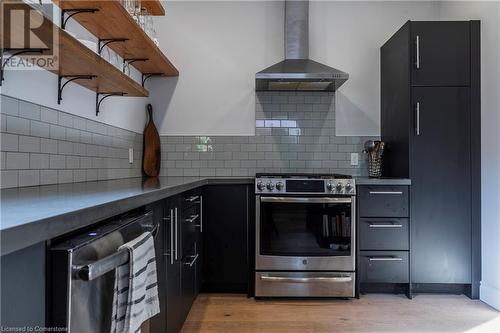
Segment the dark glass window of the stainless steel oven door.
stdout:
[[277,256],[350,256],[350,203],[261,202],[260,252]]

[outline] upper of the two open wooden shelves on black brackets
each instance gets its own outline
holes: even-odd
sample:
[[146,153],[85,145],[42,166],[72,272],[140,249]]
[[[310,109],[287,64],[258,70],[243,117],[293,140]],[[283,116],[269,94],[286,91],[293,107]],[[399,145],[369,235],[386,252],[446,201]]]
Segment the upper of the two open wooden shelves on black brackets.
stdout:
[[[179,75],[175,66],[118,0],[54,0],[54,3],[66,10],[98,9],[94,13],[79,13],[72,19],[99,39],[126,38],[125,42],[115,42],[108,46],[125,59],[148,59],[132,64],[141,73]],[[161,6],[159,1],[147,3],[157,3]]]

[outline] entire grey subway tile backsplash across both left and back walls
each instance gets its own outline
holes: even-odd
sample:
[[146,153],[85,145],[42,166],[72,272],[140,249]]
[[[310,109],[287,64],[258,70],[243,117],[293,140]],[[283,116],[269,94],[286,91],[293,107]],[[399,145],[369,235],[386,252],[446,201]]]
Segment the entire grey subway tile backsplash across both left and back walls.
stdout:
[[[1,187],[140,177],[142,135],[0,95]],[[366,175],[363,143],[335,135],[335,94],[259,92],[255,136],[162,136],[161,176]],[[134,148],[134,163],[128,163]],[[351,153],[359,165],[351,166]]]

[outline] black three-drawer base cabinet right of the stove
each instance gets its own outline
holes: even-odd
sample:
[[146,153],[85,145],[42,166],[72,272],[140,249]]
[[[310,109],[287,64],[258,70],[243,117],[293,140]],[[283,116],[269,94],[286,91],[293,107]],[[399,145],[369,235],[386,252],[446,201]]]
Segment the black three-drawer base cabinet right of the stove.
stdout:
[[361,185],[357,191],[358,290],[405,292],[411,298],[410,188]]

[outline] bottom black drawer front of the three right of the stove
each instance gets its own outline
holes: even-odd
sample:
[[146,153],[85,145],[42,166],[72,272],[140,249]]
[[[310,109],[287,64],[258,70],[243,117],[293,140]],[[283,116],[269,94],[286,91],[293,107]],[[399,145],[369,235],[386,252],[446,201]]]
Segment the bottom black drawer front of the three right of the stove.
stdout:
[[408,252],[361,251],[360,282],[409,283]]

